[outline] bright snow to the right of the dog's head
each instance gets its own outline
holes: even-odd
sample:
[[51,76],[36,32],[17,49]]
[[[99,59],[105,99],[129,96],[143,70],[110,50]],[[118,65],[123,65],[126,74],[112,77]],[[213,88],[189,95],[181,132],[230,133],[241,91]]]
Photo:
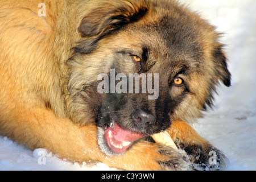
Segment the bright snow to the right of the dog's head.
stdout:
[[216,107],[193,127],[225,153],[226,170],[256,170],[256,1],[194,0],[190,7],[224,32],[232,73],[232,86],[218,89]]

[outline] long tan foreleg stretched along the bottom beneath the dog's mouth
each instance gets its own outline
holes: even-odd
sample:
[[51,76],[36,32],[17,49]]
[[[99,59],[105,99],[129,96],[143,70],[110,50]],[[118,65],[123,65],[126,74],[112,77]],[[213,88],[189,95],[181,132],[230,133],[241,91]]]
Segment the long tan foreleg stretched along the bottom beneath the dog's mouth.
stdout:
[[181,169],[181,155],[163,144],[141,141],[125,154],[106,156],[97,143],[95,125],[80,126],[60,119],[47,108],[13,110],[1,122],[2,133],[28,147],[46,148],[60,158],[77,162],[102,162],[128,170]]

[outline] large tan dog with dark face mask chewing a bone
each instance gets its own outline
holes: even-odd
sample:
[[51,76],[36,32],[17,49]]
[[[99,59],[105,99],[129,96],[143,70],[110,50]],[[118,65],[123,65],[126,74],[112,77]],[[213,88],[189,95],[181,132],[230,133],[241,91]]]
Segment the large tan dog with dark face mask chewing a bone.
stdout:
[[[172,0],[0,1],[1,134],[121,169],[223,169],[189,126],[230,86],[218,37]],[[146,92],[131,73],[152,74]],[[150,137],[164,130],[179,150]]]

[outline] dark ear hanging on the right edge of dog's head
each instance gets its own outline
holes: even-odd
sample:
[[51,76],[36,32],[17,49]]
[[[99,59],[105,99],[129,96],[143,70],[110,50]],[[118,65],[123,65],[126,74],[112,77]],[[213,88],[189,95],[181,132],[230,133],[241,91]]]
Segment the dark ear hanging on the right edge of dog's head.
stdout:
[[213,52],[214,63],[216,64],[216,73],[217,77],[220,81],[223,82],[224,85],[231,85],[231,74],[228,70],[227,59],[225,53],[222,51],[222,46],[217,47]]

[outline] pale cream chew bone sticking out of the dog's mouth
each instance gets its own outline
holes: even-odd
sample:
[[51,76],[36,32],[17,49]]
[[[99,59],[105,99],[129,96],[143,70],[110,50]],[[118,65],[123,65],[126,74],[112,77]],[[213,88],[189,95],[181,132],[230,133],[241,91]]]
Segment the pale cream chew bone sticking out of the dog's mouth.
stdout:
[[167,131],[163,131],[161,133],[156,133],[154,135],[151,135],[151,137],[157,143],[162,143],[162,144],[165,144],[166,146],[177,149],[177,146],[174,143],[174,140],[172,140],[172,138],[170,137],[170,134]]

